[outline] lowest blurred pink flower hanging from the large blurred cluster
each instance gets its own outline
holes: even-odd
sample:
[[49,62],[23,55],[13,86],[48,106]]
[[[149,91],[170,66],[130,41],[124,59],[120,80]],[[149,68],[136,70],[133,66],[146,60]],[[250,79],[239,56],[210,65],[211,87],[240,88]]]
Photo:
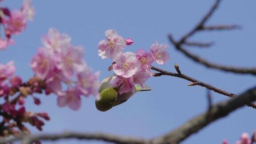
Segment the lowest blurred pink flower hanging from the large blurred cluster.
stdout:
[[72,110],[78,110],[81,107],[81,99],[76,88],[68,89],[63,96],[58,96],[58,106],[64,107],[68,105]]

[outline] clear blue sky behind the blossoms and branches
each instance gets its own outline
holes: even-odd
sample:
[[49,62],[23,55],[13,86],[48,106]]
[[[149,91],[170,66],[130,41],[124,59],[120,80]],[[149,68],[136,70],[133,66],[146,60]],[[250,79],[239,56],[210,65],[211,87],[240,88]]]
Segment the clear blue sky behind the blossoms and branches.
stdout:
[[[104,39],[104,31],[116,29],[120,36],[132,37],[135,41],[125,51],[136,52],[139,48],[149,50],[156,40],[169,45],[171,59],[168,64],[156,65],[175,72],[174,63],[180,65],[184,74],[239,94],[255,85],[255,77],[219,72],[196,64],[176,51],[169,43],[171,33],[179,39],[188,32],[208,11],[214,0],[34,0],[36,15],[33,22],[20,35],[16,44],[0,52],[0,63],[16,62],[16,74],[28,80],[33,76],[29,67],[32,56],[42,46],[41,36],[48,28],[57,28],[72,37],[72,44],[85,48],[84,59],[95,71],[100,71],[100,80],[111,75],[107,68],[111,60],[101,60],[97,55],[97,44]],[[22,1],[5,0],[3,5],[11,9],[20,8]],[[188,49],[208,60],[233,66],[255,66],[256,12],[255,0],[225,0],[207,24],[240,24],[242,30],[226,32],[200,32],[191,40],[215,41],[212,48]],[[95,108],[94,98],[82,99],[79,111],[59,108],[56,96],[40,95],[42,104],[35,106],[32,100],[26,102],[28,110],[46,111],[51,121],[46,122],[44,132],[110,132],[125,136],[153,138],[177,128],[207,108],[206,89],[194,86],[175,77],[152,77],[147,84],[150,92],[140,92],[126,103],[108,112]],[[227,100],[226,96],[212,93],[214,103]],[[242,132],[255,129],[256,111],[243,107],[229,116],[217,120],[200,132],[184,140],[182,144],[220,144],[226,138],[235,143]],[[32,132],[40,133],[35,128]],[[86,141],[88,144],[102,144],[100,141]],[[50,142],[45,142],[45,144]],[[84,143],[79,140],[60,140],[57,144]]]

